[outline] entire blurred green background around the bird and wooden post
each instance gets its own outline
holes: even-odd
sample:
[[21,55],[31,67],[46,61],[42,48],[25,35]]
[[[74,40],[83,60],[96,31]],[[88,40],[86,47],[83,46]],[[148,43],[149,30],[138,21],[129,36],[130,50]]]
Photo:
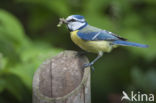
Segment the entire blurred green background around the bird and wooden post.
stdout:
[[63,50],[80,51],[67,28],[56,27],[60,17],[71,14],[150,46],[105,54],[92,72],[92,103],[120,103],[123,90],[156,93],[155,0],[1,0],[0,103],[31,103],[39,65]]

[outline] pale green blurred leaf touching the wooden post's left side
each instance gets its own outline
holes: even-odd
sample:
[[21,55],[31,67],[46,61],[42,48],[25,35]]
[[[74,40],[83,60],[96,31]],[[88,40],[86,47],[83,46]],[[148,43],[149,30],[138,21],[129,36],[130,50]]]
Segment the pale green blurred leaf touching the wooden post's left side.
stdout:
[[8,72],[20,77],[23,83],[32,87],[32,79],[35,70],[47,58],[55,56],[61,50],[50,48],[46,43],[36,43],[25,48],[21,53],[22,63],[12,67]]

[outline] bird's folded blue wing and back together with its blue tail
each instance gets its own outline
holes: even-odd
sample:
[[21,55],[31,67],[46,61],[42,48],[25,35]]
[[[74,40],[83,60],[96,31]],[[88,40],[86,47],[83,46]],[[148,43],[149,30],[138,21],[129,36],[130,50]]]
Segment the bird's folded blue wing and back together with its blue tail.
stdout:
[[148,47],[148,45],[128,42],[126,41],[127,39],[125,38],[122,38],[111,32],[108,32],[106,30],[101,30],[92,26],[87,26],[86,28],[83,28],[82,30],[77,32],[77,35],[81,39],[86,40],[86,41],[106,40],[106,41],[111,41],[113,45],[135,46],[135,47],[141,47],[141,48]]

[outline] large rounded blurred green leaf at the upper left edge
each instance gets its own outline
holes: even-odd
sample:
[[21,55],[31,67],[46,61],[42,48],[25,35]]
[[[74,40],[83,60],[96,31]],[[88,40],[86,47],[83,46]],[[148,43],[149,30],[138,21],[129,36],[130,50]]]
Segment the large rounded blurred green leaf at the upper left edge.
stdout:
[[19,21],[2,9],[0,9],[0,37],[7,39],[15,46],[27,42],[27,37]]

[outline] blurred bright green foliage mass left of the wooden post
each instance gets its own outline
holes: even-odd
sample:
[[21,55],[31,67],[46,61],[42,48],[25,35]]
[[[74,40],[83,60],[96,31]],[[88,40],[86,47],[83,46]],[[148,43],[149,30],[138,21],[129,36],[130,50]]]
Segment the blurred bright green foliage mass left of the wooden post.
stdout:
[[7,92],[19,102],[30,102],[34,71],[59,51],[29,40],[16,17],[0,10],[0,95]]

